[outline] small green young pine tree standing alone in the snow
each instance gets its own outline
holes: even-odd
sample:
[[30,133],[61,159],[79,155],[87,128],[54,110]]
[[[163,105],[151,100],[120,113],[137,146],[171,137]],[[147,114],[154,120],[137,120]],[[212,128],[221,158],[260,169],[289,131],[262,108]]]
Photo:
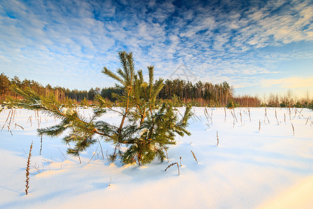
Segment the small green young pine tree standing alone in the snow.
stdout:
[[[79,157],[79,153],[97,142],[96,137],[115,145],[111,160],[120,157],[125,164],[138,162],[149,164],[158,158],[163,161],[164,148],[175,144],[175,134],[190,135],[186,130],[188,119],[191,118],[191,106],[185,107],[184,114],[178,116],[172,102],[157,104],[157,95],[163,87],[163,80],[154,81],[154,67],[149,66],[149,81],[143,79],[143,72],[134,69],[131,52],[119,52],[121,68],[112,72],[103,68],[102,72],[118,82],[116,86],[122,89],[117,101],[121,108],[116,109],[101,95],[95,94],[97,104],[93,107],[91,118],[79,114],[79,109],[70,102],[58,102],[56,96],[38,95],[30,88],[21,89],[15,85],[13,91],[22,95],[24,100],[12,100],[17,107],[42,111],[49,116],[60,119],[60,123],[52,127],[38,129],[38,135],[58,137],[65,130],[65,144],[74,144],[67,149],[67,154]],[[120,125],[112,125],[100,121],[99,117],[106,111],[115,111],[121,116]],[[123,153],[121,146],[127,146]]]

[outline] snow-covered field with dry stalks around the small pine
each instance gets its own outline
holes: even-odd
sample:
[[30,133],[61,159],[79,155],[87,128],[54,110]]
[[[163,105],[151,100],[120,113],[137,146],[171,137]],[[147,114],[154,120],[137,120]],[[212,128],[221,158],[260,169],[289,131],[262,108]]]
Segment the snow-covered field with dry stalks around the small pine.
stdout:
[[[36,129],[54,125],[54,118],[17,109],[6,121],[10,110],[2,111],[0,208],[313,208],[312,110],[267,108],[266,118],[265,108],[250,108],[250,117],[246,108],[226,109],[225,119],[223,108],[208,109],[207,117],[204,108],[193,109],[191,137],[177,136],[169,163],[142,167],[109,164],[113,146],[104,141],[104,159],[95,144],[82,153],[82,164],[65,154],[61,137],[43,137],[40,155]],[[102,119],[120,121],[114,113]],[[179,157],[180,176],[177,166],[164,171]]]

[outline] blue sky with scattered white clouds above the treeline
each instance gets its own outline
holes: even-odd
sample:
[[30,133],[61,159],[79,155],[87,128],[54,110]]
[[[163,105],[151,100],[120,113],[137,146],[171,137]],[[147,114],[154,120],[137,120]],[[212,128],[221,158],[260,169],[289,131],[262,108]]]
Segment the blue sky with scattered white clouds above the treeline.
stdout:
[[0,71],[9,77],[113,86],[101,70],[120,67],[120,50],[163,79],[313,96],[311,1],[0,0]]

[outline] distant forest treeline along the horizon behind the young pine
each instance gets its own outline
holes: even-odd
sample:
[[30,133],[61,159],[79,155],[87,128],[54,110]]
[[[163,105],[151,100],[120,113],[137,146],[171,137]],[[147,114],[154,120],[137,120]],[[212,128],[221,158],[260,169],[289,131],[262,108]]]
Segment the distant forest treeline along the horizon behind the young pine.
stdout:
[[[122,95],[122,89],[117,87],[90,88],[87,90],[70,90],[60,86],[52,87],[50,84],[42,86],[39,82],[24,79],[21,80],[15,76],[9,78],[4,73],[0,75],[0,101],[8,97],[18,98],[18,95],[10,91],[10,86],[16,85],[19,88],[31,88],[40,95],[54,93],[58,100],[72,100],[74,104],[93,104],[95,95],[101,95],[106,100],[116,102],[119,95]],[[234,96],[234,88],[227,82],[220,84],[211,84],[210,82],[197,82],[192,84],[181,79],[164,82],[164,86],[157,96],[159,100],[172,100],[177,105],[191,103],[193,106],[210,107],[312,107],[313,101],[310,98],[296,99],[291,92],[287,95],[278,96],[271,94],[266,102],[257,96],[243,95]],[[118,104],[116,104],[118,105]]]

